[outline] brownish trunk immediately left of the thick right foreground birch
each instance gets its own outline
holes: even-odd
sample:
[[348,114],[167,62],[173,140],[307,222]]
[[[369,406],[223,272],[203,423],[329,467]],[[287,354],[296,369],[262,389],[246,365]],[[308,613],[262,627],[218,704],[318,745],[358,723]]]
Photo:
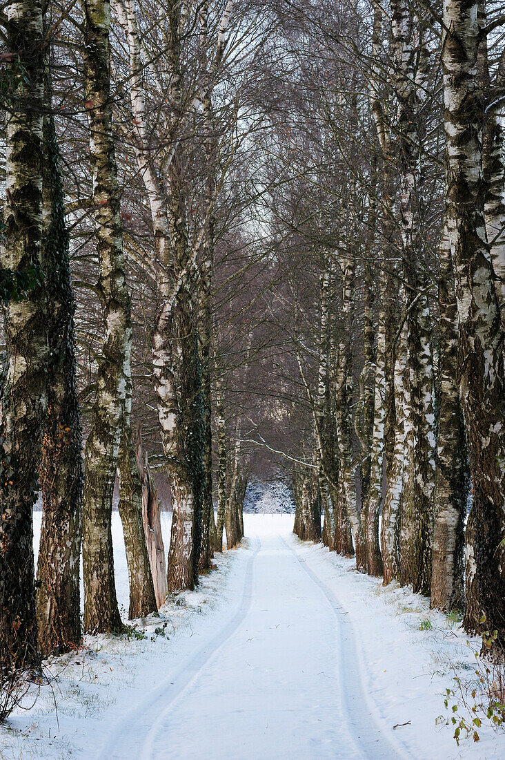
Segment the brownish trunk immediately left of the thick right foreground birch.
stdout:
[[440,242],[440,266],[440,390],[431,606],[450,612],[463,607],[464,521],[470,484],[465,429],[459,405],[458,312],[450,241],[445,226]]

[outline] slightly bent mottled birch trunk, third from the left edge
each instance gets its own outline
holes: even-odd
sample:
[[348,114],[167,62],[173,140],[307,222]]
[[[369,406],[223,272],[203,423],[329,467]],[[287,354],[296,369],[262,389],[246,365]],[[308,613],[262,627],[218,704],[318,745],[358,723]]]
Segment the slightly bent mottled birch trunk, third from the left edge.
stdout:
[[85,102],[99,258],[96,287],[104,308],[103,349],[86,444],[83,510],[84,629],[96,633],[117,631],[122,625],[115,594],[111,516],[131,353],[131,322],[112,137],[109,2],[84,0],[84,14]]

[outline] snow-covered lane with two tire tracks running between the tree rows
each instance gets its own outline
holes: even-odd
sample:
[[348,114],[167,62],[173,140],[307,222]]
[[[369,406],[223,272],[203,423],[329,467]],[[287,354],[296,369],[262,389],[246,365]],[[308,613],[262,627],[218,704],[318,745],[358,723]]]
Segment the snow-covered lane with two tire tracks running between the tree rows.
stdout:
[[352,629],[279,534],[250,536],[241,600],[101,758],[399,758],[367,708]]

